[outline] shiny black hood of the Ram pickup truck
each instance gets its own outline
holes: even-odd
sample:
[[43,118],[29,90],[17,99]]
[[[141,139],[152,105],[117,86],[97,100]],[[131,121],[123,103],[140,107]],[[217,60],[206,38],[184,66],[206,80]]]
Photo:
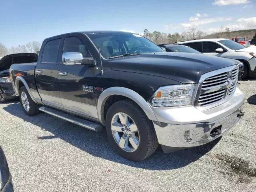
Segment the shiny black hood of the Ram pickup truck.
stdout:
[[233,60],[204,54],[156,52],[108,60],[117,71],[161,76],[181,83],[198,83],[202,74],[232,66]]

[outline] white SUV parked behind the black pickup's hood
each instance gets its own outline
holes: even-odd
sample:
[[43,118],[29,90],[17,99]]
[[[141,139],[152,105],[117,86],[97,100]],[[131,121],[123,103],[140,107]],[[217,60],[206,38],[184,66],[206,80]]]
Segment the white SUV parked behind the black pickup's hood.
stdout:
[[242,79],[256,77],[256,46],[244,47],[229,39],[199,39],[178,42],[206,55],[236,59],[244,64]]

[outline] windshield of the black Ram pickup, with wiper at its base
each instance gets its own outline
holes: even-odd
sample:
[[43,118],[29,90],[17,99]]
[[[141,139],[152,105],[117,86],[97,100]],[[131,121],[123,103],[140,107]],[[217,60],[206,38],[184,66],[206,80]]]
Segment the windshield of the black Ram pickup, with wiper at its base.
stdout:
[[159,46],[138,34],[109,32],[87,34],[87,36],[97,48],[100,46],[100,53],[105,59],[164,52]]

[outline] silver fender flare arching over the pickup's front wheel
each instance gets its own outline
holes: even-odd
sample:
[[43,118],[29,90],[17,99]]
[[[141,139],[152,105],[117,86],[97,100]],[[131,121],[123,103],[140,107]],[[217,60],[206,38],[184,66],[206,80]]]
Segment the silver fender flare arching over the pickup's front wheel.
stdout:
[[98,98],[98,103],[97,103],[98,118],[103,125],[105,125],[104,106],[105,106],[106,100],[112,95],[120,95],[120,96],[125,96],[127,98],[130,98],[136,104],[138,104],[140,108],[142,108],[142,110],[145,112],[146,116],[148,116],[150,120],[155,120],[155,121],[157,120],[148,102],[146,102],[146,100],[144,100],[144,98],[140,96],[140,94],[138,94],[137,92],[131,89],[124,88],[124,87],[110,87],[105,89],[100,94],[100,97]]

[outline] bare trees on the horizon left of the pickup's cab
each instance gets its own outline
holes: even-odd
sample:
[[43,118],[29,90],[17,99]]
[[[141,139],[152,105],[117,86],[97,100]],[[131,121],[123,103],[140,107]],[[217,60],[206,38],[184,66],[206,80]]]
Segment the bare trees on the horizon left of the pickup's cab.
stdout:
[[11,46],[11,48],[7,48],[0,42],[0,57],[3,57],[8,54],[14,54],[14,53],[37,53],[40,51],[42,43],[38,41],[31,41],[28,42],[25,45],[19,45],[19,46]]

